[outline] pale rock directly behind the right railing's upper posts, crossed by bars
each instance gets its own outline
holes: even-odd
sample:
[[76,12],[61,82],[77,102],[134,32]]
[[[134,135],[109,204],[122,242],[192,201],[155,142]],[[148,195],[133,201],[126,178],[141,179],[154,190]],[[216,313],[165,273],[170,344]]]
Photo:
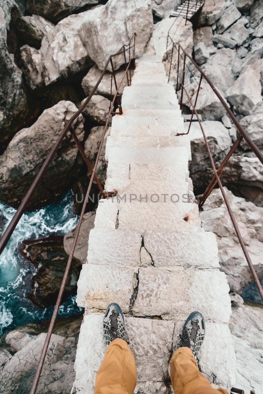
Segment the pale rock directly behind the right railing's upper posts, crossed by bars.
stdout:
[[[195,80],[192,84],[188,85],[187,93],[189,97],[194,103],[197,89],[198,89],[198,82]],[[224,93],[217,89],[220,95],[224,98]],[[178,93],[178,98],[181,96],[181,91]],[[192,106],[187,98],[187,95],[184,93],[183,95],[183,104],[187,106],[190,110],[192,110]],[[201,88],[199,90],[198,99],[196,102],[196,112],[202,115],[202,120],[206,121],[214,121],[214,120],[221,120],[222,116],[226,113],[226,110],[222,106],[221,102],[211,89],[211,87],[207,84],[205,80],[201,83]]]

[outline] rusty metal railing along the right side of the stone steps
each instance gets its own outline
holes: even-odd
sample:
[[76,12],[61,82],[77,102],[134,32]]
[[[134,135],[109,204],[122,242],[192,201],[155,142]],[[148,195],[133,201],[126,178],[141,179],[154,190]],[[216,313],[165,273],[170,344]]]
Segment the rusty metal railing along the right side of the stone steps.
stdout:
[[[255,271],[255,268],[252,264],[252,261],[250,259],[250,256],[248,254],[248,251],[246,249],[246,245],[244,243],[244,240],[241,236],[241,233],[239,231],[237,222],[235,220],[235,217],[233,215],[232,209],[230,207],[228,198],[226,197],[226,193],[224,191],[224,188],[222,186],[221,180],[220,178],[222,177],[222,174],[224,172],[224,166],[226,165],[226,163],[228,162],[228,160],[230,159],[230,157],[232,156],[233,152],[235,151],[235,149],[237,149],[237,147],[240,144],[240,141],[244,138],[244,140],[248,143],[249,147],[252,149],[252,151],[255,153],[255,155],[257,156],[257,158],[260,160],[261,164],[263,164],[263,154],[261,153],[261,151],[259,151],[258,147],[256,146],[256,144],[252,141],[252,139],[250,138],[250,136],[245,132],[245,130],[243,129],[243,127],[240,125],[239,121],[237,120],[237,118],[235,117],[235,115],[233,114],[233,112],[230,110],[230,108],[228,107],[228,104],[225,102],[225,100],[222,98],[222,96],[220,95],[220,93],[217,91],[217,89],[215,88],[215,86],[212,84],[212,82],[209,80],[209,78],[206,76],[206,74],[200,69],[200,67],[198,67],[198,65],[195,63],[195,61],[191,58],[191,56],[189,56],[189,54],[187,54],[187,52],[185,52],[185,50],[183,49],[182,45],[180,45],[179,43],[175,43],[172,39],[172,37],[170,37],[170,35],[168,34],[167,37],[167,44],[168,44],[168,40],[170,40],[169,45],[172,45],[172,50],[171,50],[171,59],[170,59],[170,69],[169,69],[169,80],[170,80],[170,73],[171,73],[171,68],[172,66],[174,66],[175,70],[176,70],[176,91],[179,91],[179,82],[181,84],[181,93],[180,93],[180,107],[182,107],[182,102],[183,102],[183,92],[185,92],[185,94],[187,95],[187,99],[189,100],[189,103],[191,104],[191,107],[193,108],[192,110],[192,115],[191,115],[191,120],[189,123],[189,128],[187,133],[180,133],[177,135],[183,135],[183,134],[188,134],[191,128],[191,124],[193,121],[193,115],[196,115],[197,121],[200,125],[200,128],[202,130],[202,134],[204,137],[204,141],[206,144],[206,149],[208,152],[208,156],[209,156],[209,160],[211,162],[211,166],[214,172],[213,178],[211,179],[211,181],[209,182],[206,190],[204,191],[204,193],[199,197],[198,199],[198,206],[199,208],[201,208],[204,204],[204,202],[206,201],[207,197],[209,196],[209,194],[211,193],[211,191],[215,188],[215,186],[218,184],[220,191],[222,193],[222,197],[224,199],[224,202],[226,204],[226,208],[228,210],[230,219],[233,223],[233,227],[235,229],[235,232],[237,234],[237,238],[239,240],[239,243],[241,245],[241,248],[243,250],[244,256],[246,258],[246,261],[248,263],[248,266],[250,268],[250,271],[252,273],[252,277],[254,278],[254,281],[256,283],[257,289],[259,291],[259,294],[261,296],[261,299],[263,300],[263,288],[261,286],[261,283],[259,281],[259,278],[257,276],[257,273]],[[177,57],[177,64],[173,64],[172,63],[172,57],[174,54],[174,49],[178,52],[178,57]],[[183,56],[182,56],[183,54]],[[168,58],[168,50],[167,50],[167,58]],[[194,67],[198,70],[198,72],[200,72],[200,79],[199,79],[199,84],[198,84],[198,89],[196,91],[196,97],[194,100],[194,103],[192,102],[192,100],[189,97],[189,94],[187,92],[187,89],[184,86],[184,80],[185,80],[185,66],[186,65],[186,58],[188,58],[191,63],[193,63]],[[183,61],[183,69],[182,69],[182,78],[180,77],[180,59],[182,59]],[[235,125],[235,127],[237,128],[238,132],[239,132],[239,136],[237,137],[237,140],[235,141],[235,143],[233,144],[232,148],[230,149],[230,151],[228,152],[228,154],[226,155],[226,157],[224,158],[224,160],[222,161],[221,165],[219,166],[218,169],[216,169],[215,167],[215,163],[209,148],[209,144],[207,142],[207,138],[206,138],[206,134],[204,132],[204,128],[202,126],[202,123],[200,121],[200,117],[196,111],[196,102],[198,100],[198,93],[200,91],[201,88],[201,83],[202,83],[202,79],[205,79],[206,82],[209,84],[209,86],[211,87],[211,89],[213,90],[213,92],[215,93],[215,95],[217,96],[217,98],[220,100],[220,102],[222,103],[222,106],[224,107],[224,109],[226,110],[226,112],[228,113],[230,119],[232,120],[233,124]],[[168,82],[169,82],[168,80]]]

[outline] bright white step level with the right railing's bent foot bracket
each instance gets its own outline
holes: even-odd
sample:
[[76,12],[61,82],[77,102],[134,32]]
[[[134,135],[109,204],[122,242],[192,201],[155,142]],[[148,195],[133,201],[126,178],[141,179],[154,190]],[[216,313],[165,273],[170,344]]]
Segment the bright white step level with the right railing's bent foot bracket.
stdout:
[[[137,110],[131,110],[137,112]],[[167,113],[167,111],[165,111]],[[170,112],[170,111],[169,111]],[[184,132],[184,120],[181,112],[170,113],[170,117],[160,117],[159,113],[155,116],[133,116],[116,115],[111,123],[112,137],[134,137],[141,139],[143,137],[171,137],[178,133]],[[179,136],[176,138],[186,138],[188,136]],[[188,137],[189,138],[189,137]]]

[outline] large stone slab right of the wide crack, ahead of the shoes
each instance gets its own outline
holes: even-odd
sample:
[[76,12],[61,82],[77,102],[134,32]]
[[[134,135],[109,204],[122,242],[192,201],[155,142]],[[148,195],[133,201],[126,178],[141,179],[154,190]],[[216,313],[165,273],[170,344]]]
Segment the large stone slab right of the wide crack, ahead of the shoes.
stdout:
[[206,321],[227,323],[231,314],[226,275],[218,270],[139,268],[134,316],[185,320],[193,310]]

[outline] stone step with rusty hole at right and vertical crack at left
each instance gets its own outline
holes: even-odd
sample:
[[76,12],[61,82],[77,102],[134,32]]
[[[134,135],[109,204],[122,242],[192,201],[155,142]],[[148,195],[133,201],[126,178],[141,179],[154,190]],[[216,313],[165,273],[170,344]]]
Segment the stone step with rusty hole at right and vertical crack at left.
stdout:
[[[133,196],[131,196],[131,199]],[[173,197],[175,198],[175,197]],[[177,197],[176,197],[177,198]],[[169,209],[168,209],[169,207]],[[201,231],[195,203],[152,203],[119,201],[117,197],[101,200],[94,221],[95,228],[114,230]]]

